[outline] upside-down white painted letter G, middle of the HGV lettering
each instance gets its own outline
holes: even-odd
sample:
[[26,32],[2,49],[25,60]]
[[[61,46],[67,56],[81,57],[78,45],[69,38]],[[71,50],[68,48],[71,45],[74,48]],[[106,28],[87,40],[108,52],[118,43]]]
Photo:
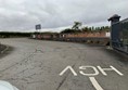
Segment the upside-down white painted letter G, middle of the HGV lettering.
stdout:
[[93,67],[93,66],[80,66],[79,67],[79,69],[87,69],[87,68],[92,68],[94,70],[94,73],[93,74],[85,74],[82,70],[79,70],[79,73],[81,75],[85,75],[85,76],[95,76],[95,75],[99,75],[99,70],[95,67]]

